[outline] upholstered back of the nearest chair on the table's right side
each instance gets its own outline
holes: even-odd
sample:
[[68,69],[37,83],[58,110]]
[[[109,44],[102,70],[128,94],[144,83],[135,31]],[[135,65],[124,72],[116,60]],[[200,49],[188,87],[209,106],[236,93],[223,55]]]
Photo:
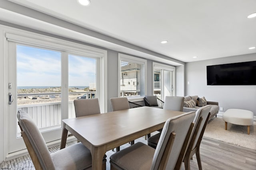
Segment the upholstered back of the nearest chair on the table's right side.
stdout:
[[[191,135],[195,115],[195,111],[191,111],[166,121],[154,153],[151,170],[175,168],[184,141]],[[187,143],[185,145],[187,146]]]

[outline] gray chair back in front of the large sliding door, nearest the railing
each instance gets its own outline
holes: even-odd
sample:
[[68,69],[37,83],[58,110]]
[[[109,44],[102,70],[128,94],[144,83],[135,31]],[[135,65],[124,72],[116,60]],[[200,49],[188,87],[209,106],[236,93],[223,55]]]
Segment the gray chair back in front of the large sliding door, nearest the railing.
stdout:
[[76,117],[100,114],[98,98],[74,100]]

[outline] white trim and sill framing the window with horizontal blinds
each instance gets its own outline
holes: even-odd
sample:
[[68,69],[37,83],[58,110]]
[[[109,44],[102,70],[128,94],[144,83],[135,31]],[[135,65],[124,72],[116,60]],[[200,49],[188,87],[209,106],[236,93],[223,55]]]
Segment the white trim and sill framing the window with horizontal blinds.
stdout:
[[[138,63],[138,64],[144,64],[145,66],[145,95],[147,93],[147,60],[146,59],[141,59],[138,57],[133,57],[130,55],[125,55],[122,53],[118,53],[118,77],[117,77],[117,81],[118,81],[118,97],[120,96],[120,72],[121,72],[121,68],[120,68],[120,62],[121,60],[125,60],[125,61],[130,61],[132,63]],[[144,98],[144,96],[137,96],[137,97],[127,97],[129,101],[138,101]]]

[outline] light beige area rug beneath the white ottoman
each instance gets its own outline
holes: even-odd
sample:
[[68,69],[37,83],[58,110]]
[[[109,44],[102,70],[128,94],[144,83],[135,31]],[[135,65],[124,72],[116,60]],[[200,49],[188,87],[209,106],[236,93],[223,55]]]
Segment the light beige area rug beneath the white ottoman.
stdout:
[[247,126],[228,123],[225,130],[222,117],[214,117],[208,121],[204,137],[256,150],[256,122],[250,126],[250,135],[247,135]]

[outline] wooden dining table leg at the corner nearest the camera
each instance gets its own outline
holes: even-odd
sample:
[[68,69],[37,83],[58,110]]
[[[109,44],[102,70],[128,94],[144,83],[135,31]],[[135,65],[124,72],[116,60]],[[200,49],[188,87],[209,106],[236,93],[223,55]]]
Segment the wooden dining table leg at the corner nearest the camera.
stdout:
[[92,170],[102,170],[102,160],[105,153],[106,150],[103,146],[92,148]]

